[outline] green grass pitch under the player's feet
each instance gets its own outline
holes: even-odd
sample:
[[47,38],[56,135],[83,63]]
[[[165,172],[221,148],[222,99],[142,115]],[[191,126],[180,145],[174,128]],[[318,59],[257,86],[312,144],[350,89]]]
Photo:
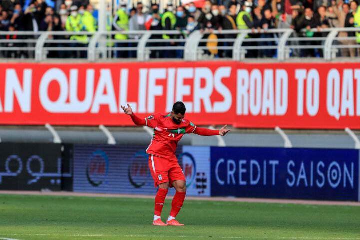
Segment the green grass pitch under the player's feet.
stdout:
[[153,199],[0,194],[0,239],[360,239],[356,206],[185,200],[184,227],[152,218]]

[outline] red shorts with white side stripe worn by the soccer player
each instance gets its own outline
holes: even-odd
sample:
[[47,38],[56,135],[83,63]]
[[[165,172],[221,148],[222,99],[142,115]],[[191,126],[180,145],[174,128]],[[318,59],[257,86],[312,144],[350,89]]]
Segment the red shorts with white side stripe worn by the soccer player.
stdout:
[[186,181],[183,171],[177,159],[167,159],[155,155],[149,155],[149,168],[154,179],[154,185],[168,182],[172,187],[172,182],[176,180]]

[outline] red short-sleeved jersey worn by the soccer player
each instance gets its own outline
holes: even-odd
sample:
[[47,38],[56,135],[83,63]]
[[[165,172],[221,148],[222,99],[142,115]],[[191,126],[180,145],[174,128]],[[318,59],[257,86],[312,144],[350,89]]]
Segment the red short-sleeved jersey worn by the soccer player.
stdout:
[[154,134],[146,153],[165,158],[175,158],[178,141],[186,133],[193,133],[196,126],[183,118],[175,124],[170,113],[155,113],[145,119],[146,126],[154,128]]

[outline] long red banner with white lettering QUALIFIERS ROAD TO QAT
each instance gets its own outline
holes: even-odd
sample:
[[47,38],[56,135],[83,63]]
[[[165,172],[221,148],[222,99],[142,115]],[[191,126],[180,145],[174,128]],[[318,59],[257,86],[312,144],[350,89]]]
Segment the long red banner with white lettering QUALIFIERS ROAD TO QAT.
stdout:
[[175,101],[197,125],[360,129],[358,63],[0,64],[0,124],[133,125]]

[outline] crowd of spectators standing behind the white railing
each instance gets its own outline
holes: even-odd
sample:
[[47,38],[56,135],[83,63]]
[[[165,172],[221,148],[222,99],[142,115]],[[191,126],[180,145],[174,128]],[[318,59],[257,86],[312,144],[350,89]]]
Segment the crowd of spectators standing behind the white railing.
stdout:
[[[200,30],[204,38],[214,39],[208,43],[206,54],[213,57],[231,57],[231,50],[217,50],[211,46],[231,46],[233,41],[216,39],[234,39],[237,34],[214,34],[214,30],[251,29],[247,38],[277,38],[278,35],[268,33],[268,29],[292,28],[294,35],[304,38],[324,36],[321,31],[328,27],[360,27],[360,7],[358,0],[206,0],[203,8],[197,8],[194,3],[173,6],[167,3],[164,12],[159,12],[157,4],[145,6],[141,2],[133,8],[128,8],[127,2],[120,4],[114,14],[107,10],[107,30],[180,30],[181,35],[152,35],[153,39],[187,38],[194,30]],[[86,0],[64,0],[58,7],[49,6],[46,0],[0,0],[0,31],[68,31],[69,35],[53,35],[52,39],[75,39],[77,43],[71,46],[83,47],[88,44],[89,36],[76,35],[76,32],[97,30],[97,11]],[[56,9],[58,8],[58,9]],[[311,29],[317,28],[313,31]],[[340,32],[340,37],[356,36],[357,39],[339,40],[336,44],[360,44],[360,33]],[[1,35],[2,39],[31,39],[35,36],[21,36],[16,34]],[[139,39],[139,34],[118,33],[109,38],[111,46],[121,47],[115,51],[115,57],[136,57],[137,43],[121,42],[126,39]],[[317,39],[317,38],[314,38]],[[317,40],[292,42],[301,45],[321,45]],[[19,46],[20,42],[2,43],[1,46]],[[27,43],[33,46],[33,43]],[[49,43],[46,46],[62,47],[65,43]],[[151,42],[149,46],[183,46],[183,42],[169,41],[168,43]],[[244,45],[273,46],[274,41],[244,42]],[[132,48],[134,49],[134,48]],[[2,51],[2,57],[32,57],[32,53],[18,50]],[[85,51],[50,51],[48,57],[86,57]],[[317,49],[296,49],[294,56],[318,56],[323,52]],[[340,56],[357,56],[356,48],[342,48]],[[181,50],[152,50],[152,58],[181,58]],[[248,50],[247,57],[275,57],[276,50],[263,48],[262,50]]]

